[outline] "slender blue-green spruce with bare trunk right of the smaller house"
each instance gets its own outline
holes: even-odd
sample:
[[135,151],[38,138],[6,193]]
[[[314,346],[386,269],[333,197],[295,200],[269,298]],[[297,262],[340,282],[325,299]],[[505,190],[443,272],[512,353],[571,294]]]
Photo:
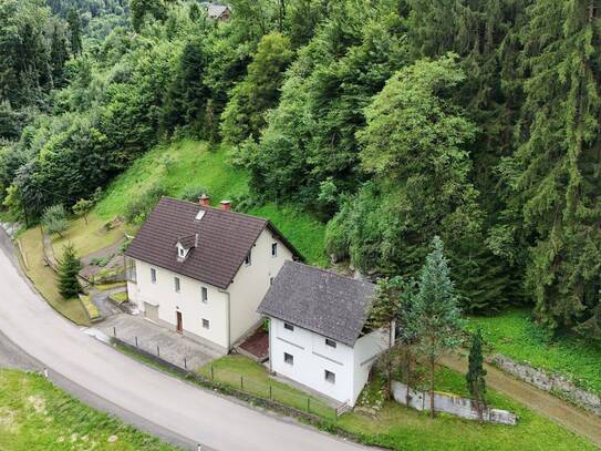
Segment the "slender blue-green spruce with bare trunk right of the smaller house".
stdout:
[[419,318],[417,326],[421,336],[417,347],[429,366],[429,409],[434,418],[436,363],[445,351],[459,346],[463,319],[448,262],[443,253],[443,240],[435,236],[432,247],[419,276],[415,310]]

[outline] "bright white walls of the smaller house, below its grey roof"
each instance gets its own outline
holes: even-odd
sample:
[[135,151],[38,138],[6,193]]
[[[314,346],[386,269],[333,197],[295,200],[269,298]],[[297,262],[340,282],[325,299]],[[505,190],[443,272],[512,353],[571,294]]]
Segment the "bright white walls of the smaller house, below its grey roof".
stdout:
[[[354,406],[382,350],[382,332],[360,338],[354,347],[336,342],[332,348],[319,334],[297,326],[291,331],[283,325],[280,319],[270,319],[271,370],[336,401]],[[284,361],[284,352],[294,357],[293,365]],[[325,370],[335,375],[335,383],[325,380]]]

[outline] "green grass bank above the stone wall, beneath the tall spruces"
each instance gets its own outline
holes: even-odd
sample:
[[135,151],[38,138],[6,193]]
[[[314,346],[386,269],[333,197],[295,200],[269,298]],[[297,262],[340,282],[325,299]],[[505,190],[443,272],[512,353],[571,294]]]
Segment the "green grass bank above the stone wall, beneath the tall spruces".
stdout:
[[469,319],[470,329],[478,326],[493,352],[559,372],[579,387],[601,393],[601,349],[572,337],[550,340],[526,309]]

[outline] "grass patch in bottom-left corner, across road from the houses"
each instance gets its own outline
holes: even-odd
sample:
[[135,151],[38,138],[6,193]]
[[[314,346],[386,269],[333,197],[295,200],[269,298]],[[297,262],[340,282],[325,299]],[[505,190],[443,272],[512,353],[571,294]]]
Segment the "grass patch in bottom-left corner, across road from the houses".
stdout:
[[40,375],[0,370],[0,449],[167,451],[176,448],[90,409]]

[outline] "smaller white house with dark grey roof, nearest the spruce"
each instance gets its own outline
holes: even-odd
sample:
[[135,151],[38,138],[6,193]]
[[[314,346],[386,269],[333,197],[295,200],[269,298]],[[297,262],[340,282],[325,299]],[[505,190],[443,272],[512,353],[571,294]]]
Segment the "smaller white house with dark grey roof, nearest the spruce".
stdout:
[[373,293],[372,284],[286,262],[258,308],[270,318],[271,371],[354,406],[387,342],[365,327]]

